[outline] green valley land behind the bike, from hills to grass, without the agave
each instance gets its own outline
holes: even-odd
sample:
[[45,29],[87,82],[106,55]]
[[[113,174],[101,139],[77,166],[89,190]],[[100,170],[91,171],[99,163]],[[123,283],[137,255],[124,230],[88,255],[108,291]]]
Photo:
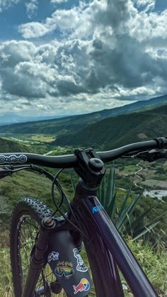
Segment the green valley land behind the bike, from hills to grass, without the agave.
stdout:
[[[76,147],[94,147],[95,150],[110,150],[114,147],[130,142],[149,140],[167,135],[167,105],[151,106],[130,113],[123,113],[108,118],[91,118],[85,115],[80,122],[79,117],[59,118],[56,120],[40,121],[35,123],[21,123],[1,126],[0,152],[35,152],[41,155],[64,155],[73,153]],[[112,165],[113,166],[113,165]],[[143,240],[132,242],[128,233],[127,242],[143,264],[144,270],[159,296],[165,296],[167,291],[163,270],[166,269],[166,220],[167,220],[167,161],[159,160],[151,164],[132,159],[117,159],[115,167],[115,193],[117,211],[129,196],[127,204],[142,194],[134,210],[133,218],[138,218],[142,213],[149,211],[144,218],[144,224],[148,224],[159,216],[159,224],[152,232],[149,232]],[[56,174],[57,170],[48,169]],[[109,175],[110,164],[106,167]],[[73,175],[77,181],[76,174]],[[60,177],[63,189],[69,200],[74,196],[71,185],[70,171],[62,172]],[[130,187],[132,189],[129,191]],[[106,186],[105,186],[106,187]],[[8,255],[8,227],[13,207],[23,197],[39,198],[53,208],[51,198],[51,183],[49,179],[30,170],[25,170],[0,180],[0,224],[1,224],[1,252],[4,275],[0,278],[0,296],[8,293],[12,297],[11,275],[6,270]],[[56,197],[59,199],[58,192]],[[160,197],[160,198],[159,198]],[[67,211],[67,206],[64,206]],[[156,243],[157,250],[155,247]],[[154,250],[152,250],[154,246]],[[163,247],[162,247],[163,246]],[[139,256],[140,255],[140,256]],[[141,256],[142,255],[142,256]],[[84,254],[84,257],[85,254]],[[163,262],[160,265],[159,262]],[[149,264],[148,264],[149,263]],[[154,279],[154,269],[157,278]],[[2,295],[7,296],[7,295]],[[95,296],[95,295],[92,295]],[[126,296],[131,296],[127,292]]]

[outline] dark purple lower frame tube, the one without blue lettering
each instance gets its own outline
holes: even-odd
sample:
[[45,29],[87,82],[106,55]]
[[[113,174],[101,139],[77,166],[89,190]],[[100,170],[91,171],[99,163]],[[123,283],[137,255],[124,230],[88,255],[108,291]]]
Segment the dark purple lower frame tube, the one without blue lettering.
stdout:
[[[92,195],[93,193],[91,192],[90,196]],[[96,296],[123,297],[124,293],[115,260],[98,232],[96,224],[92,221],[87,206],[85,203],[82,203],[82,198],[89,199],[89,194],[77,186],[71,206],[79,221],[80,228],[91,238],[91,242],[84,238],[83,240],[88,261],[91,265]]]

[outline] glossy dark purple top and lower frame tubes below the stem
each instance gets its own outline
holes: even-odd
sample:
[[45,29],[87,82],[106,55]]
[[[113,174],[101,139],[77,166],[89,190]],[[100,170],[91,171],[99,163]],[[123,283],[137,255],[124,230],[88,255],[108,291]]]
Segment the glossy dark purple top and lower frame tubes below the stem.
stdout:
[[157,297],[137,259],[98,201],[96,191],[88,191],[81,184],[76,188],[72,206],[79,213],[80,225],[91,238],[91,244],[84,239],[84,245],[91,264],[97,296],[124,296],[115,264],[117,263],[135,297]]

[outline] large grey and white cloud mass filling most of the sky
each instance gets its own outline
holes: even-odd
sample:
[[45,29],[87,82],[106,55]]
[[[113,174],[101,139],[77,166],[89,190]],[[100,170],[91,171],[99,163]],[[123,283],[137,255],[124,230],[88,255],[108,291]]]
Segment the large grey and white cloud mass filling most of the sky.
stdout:
[[167,10],[152,13],[150,7],[149,0],[144,10],[130,0],[93,0],[77,9],[57,9],[43,23],[23,24],[23,37],[39,37],[43,26],[43,35],[59,28],[62,40],[2,43],[1,94],[13,101],[36,100],[42,108],[46,100],[51,106],[81,100],[103,106],[112,97],[141,99],[166,92]]

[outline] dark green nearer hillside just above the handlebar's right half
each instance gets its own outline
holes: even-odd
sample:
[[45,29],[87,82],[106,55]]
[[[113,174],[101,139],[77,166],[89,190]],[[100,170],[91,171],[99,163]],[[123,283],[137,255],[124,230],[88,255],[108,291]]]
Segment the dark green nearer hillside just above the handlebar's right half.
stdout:
[[150,111],[107,118],[88,125],[79,133],[59,135],[55,145],[74,145],[111,149],[130,142],[167,135],[167,105]]

